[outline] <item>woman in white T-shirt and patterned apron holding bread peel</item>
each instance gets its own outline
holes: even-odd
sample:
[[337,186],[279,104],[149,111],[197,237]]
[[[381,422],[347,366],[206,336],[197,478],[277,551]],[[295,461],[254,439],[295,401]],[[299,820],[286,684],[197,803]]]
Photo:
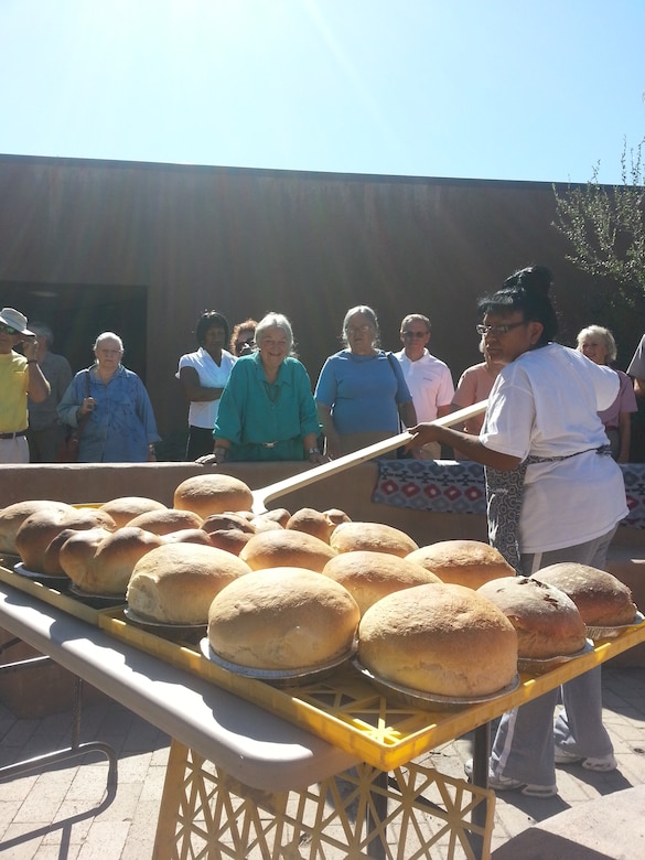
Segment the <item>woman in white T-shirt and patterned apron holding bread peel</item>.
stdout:
[[[411,430],[413,447],[439,441],[484,464],[491,544],[524,576],[558,562],[604,568],[627,515],[622,473],[598,417],[615,399],[619,379],[610,367],[552,342],[551,280],[542,266],[522,269],[479,303],[477,333],[493,361],[504,364],[479,438],[429,424]],[[550,797],[556,764],[616,767],[602,724],[600,667],[563,685],[561,695],[555,729],[557,689],[503,716],[491,787]]]

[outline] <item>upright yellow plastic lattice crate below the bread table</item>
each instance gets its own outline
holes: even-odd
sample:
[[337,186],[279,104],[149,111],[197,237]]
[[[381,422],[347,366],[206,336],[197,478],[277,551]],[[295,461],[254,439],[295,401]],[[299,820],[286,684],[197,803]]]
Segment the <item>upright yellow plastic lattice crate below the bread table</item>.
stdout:
[[[487,858],[495,796],[416,763],[367,764],[302,791],[243,785],[173,741],[157,860]],[[470,818],[485,805],[485,825]]]

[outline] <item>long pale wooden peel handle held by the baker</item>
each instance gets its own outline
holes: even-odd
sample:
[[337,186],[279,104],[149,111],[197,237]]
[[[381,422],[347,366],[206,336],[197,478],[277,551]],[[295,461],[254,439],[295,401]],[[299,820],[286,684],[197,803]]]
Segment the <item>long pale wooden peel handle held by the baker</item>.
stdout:
[[[474,418],[486,410],[488,405],[487,400],[480,400],[479,404],[473,406],[466,406],[463,409],[458,409],[456,412],[451,412],[443,418],[438,418],[431,423],[437,427],[451,427],[452,424],[463,423],[469,418]],[[395,448],[406,444],[412,439],[412,433],[397,433],[389,439],[384,439],[383,442],[375,442],[373,445],[362,448],[359,451],[353,451],[351,454],[344,454],[337,460],[332,460],[331,463],[322,463],[314,469],[310,469],[307,472],[301,472],[298,475],[291,475],[283,481],[277,481],[275,484],[261,487],[260,490],[254,490],[254,514],[262,514],[267,509],[267,502],[270,502],[278,496],[283,496],[286,493],[291,493],[294,490],[300,490],[303,486],[313,484],[315,481],[321,481],[323,477],[331,477],[337,472],[344,472],[350,466],[364,463],[366,460],[372,460],[379,454],[386,454],[388,451],[394,451]]]

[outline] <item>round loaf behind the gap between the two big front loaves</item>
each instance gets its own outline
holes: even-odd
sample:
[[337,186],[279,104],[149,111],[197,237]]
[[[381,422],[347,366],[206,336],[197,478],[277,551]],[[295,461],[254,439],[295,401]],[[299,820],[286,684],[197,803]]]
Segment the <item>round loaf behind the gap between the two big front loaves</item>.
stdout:
[[389,552],[341,552],[324,566],[325,577],[340,582],[354,598],[363,615],[377,600],[395,591],[441,582],[420,565]]

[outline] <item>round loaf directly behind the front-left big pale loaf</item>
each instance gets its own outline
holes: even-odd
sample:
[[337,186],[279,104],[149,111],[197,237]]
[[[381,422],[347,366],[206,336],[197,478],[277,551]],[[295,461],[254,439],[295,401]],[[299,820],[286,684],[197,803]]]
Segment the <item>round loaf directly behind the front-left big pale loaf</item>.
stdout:
[[307,568],[319,573],[336,553],[324,540],[304,531],[280,528],[252,535],[239,551],[251,570]]

